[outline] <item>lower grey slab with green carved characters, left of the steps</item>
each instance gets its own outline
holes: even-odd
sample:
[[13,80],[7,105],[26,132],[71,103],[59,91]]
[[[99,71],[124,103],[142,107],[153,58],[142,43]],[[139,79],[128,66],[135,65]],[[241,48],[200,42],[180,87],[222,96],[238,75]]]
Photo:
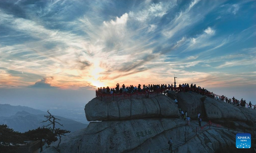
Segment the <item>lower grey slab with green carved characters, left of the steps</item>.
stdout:
[[[165,126],[163,126],[165,125]],[[180,119],[133,119],[91,122],[89,126],[61,139],[62,153],[148,152],[168,146],[168,138],[184,135]],[[164,143],[163,143],[164,142]],[[55,146],[54,142],[51,146]],[[55,152],[47,148],[44,152]]]

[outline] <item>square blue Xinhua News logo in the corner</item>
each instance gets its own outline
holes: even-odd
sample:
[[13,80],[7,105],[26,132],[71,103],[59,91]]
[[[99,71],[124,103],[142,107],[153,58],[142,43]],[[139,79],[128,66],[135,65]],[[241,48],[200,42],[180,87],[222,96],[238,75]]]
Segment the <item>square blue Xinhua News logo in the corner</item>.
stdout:
[[236,148],[241,148],[241,149],[251,148],[251,134],[250,133],[236,134]]

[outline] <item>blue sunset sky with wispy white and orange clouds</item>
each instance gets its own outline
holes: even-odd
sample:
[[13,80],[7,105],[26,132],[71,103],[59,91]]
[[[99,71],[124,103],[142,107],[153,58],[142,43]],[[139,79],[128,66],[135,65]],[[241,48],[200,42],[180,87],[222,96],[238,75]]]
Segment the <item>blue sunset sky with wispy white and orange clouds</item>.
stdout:
[[86,104],[97,87],[175,75],[255,104],[255,10],[255,0],[1,0],[0,103]]

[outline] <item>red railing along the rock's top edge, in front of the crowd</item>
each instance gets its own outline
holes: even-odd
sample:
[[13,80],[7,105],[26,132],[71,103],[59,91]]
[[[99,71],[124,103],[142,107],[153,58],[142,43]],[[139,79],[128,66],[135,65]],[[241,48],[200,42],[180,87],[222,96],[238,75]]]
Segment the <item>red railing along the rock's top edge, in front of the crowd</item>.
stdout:
[[[141,89],[142,90],[142,89]],[[210,98],[216,98],[218,97],[221,101],[226,101],[225,96],[220,96],[217,94],[214,94],[210,91],[205,90],[204,88],[190,88],[190,87],[171,87],[171,88],[158,88],[156,90],[150,91],[150,90],[146,90],[146,91],[135,91],[134,93],[113,93],[113,94],[109,94],[109,93],[101,93],[99,91],[96,90],[96,97],[99,97],[101,100],[104,100],[105,102],[111,102],[111,101],[119,101],[119,100],[123,100],[123,99],[131,99],[131,98],[145,98],[145,97],[155,97],[158,96],[158,94],[167,94],[168,91],[175,91],[175,92],[180,92],[180,91],[184,91],[184,92],[196,92],[199,93],[203,96],[207,96]],[[227,98],[227,99],[231,99],[232,98]],[[227,102],[227,101],[226,101]],[[233,104],[233,103],[232,103]],[[249,108],[249,104],[245,104],[245,107]],[[252,108],[256,107],[255,105],[252,105]]]

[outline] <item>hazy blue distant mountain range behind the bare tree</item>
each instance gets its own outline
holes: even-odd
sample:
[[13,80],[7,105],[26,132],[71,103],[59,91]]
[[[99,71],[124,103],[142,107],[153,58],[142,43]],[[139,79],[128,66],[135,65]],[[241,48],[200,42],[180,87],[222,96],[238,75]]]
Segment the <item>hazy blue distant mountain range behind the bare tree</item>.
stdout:
[[[23,133],[43,125],[47,125],[47,122],[41,123],[43,120],[47,120],[44,115],[48,115],[48,113],[26,106],[11,106],[9,104],[0,104],[0,124],[6,124],[14,131]],[[54,115],[54,117],[60,119],[59,123],[63,124],[64,126],[62,127],[56,124],[56,128],[66,129],[71,132],[75,132],[88,126],[88,124],[83,124],[61,116]]]

